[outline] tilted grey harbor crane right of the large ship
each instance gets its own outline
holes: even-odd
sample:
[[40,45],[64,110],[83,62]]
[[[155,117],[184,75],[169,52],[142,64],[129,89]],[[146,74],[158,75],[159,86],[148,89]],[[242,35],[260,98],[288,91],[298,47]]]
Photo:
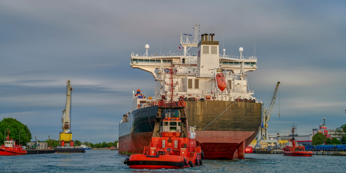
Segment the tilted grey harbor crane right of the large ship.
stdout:
[[[257,135],[257,143],[255,147],[261,147],[260,142],[261,143],[276,143],[277,146],[275,147],[279,147],[278,145],[279,143],[276,139],[268,139],[268,124],[267,124],[275,104],[277,90],[279,90],[279,84],[280,82],[277,82],[276,88],[272,95],[272,100],[270,104],[263,110],[263,124],[262,124],[260,133],[258,133]],[[280,117],[280,112],[279,112],[279,117]]]

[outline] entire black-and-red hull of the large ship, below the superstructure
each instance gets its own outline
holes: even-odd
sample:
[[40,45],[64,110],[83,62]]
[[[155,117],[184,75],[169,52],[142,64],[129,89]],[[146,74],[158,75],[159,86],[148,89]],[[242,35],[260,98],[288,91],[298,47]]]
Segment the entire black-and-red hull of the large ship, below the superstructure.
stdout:
[[[157,106],[132,111],[119,124],[119,153],[143,153],[149,145]],[[244,158],[261,128],[262,103],[233,101],[187,101],[189,126],[196,126],[197,144],[206,159]]]

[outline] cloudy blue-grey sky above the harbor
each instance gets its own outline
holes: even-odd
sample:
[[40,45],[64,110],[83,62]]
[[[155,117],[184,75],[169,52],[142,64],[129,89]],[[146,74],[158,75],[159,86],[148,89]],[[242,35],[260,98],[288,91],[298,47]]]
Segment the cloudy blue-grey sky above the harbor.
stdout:
[[266,103],[281,82],[270,135],[288,135],[293,123],[312,134],[323,117],[337,128],[346,124],[345,16],[345,1],[0,0],[0,117],[58,139],[71,79],[72,138],[113,142],[132,91],[154,93],[130,52],[145,53],[145,44],[149,53],[180,52],[180,33],[194,35],[198,23],[227,54],[243,47],[252,56],[256,40],[250,89]]

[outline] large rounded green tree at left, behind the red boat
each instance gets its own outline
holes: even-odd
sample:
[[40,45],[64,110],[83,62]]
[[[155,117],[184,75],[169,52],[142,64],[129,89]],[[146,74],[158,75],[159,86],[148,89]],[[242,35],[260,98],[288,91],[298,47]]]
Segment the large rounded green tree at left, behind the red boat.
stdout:
[[[8,134],[7,131],[10,131]],[[9,135],[10,138],[15,140],[21,145],[26,145],[31,140],[31,133],[27,125],[22,124],[15,118],[4,118],[0,121],[0,144],[3,144],[4,137]]]

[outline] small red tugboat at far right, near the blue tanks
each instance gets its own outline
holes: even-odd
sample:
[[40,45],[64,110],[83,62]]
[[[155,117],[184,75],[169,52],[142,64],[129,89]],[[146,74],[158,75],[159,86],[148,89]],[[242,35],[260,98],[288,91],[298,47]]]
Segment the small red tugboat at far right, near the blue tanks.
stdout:
[[312,151],[305,150],[304,146],[298,146],[297,141],[294,139],[294,129],[297,126],[292,126],[292,139],[290,139],[287,145],[282,148],[282,153],[284,156],[312,156]]

